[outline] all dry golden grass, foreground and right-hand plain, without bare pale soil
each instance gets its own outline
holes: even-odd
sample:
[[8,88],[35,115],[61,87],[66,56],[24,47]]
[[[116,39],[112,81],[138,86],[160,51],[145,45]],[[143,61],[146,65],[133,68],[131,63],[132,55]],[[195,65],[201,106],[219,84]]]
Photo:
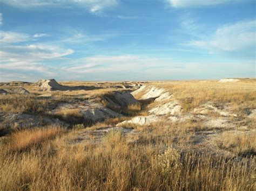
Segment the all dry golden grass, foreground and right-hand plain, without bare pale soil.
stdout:
[[[238,126],[255,128],[255,119],[249,120],[245,115],[247,110],[255,109],[254,80],[236,83],[183,81],[153,84],[170,91],[179,100],[184,112],[211,101],[218,108],[233,107],[233,111],[239,114],[239,120],[230,120],[237,120],[235,123]],[[108,94],[109,90],[55,92],[53,97],[57,100],[99,98]],[[12,101],[5,110],[14,107],[14,103]],[[84,125],[77,125],[76,129],[82,130],[64,133],[66,131],[62,129],[46,128],[11,133],[0,144],[0,190],[255,189],[254,134],[230,135],[225,133],[226,129],[218,129],[221,133],[224,131],[224,134],[218,139],[221,149],[216,149],[211,134],[200,136],[200,133],[209,130],[202,122],[161,121],[147,126],[129,126],[134,130],[127,136],[110,131],[102,142],[84,139],[74,144],[73,140],[78,138],[79,133],[87,129],[113,127],[131,119],[133,114],[142,115],[149,103],[146,101],[140,106],[129,106],[127,111],[133,111],[130,117],[107,119],[86,129],[83,129]],[[28,111],[29,108],[20,110]],[[81,117],[78,110],[62,110],[56,115],[71,123],[83,124],[71,120],[71,116],[76,119]],[[211,117],[215,115],[211,114]],[[215,132],[221,135],[218,131]]]

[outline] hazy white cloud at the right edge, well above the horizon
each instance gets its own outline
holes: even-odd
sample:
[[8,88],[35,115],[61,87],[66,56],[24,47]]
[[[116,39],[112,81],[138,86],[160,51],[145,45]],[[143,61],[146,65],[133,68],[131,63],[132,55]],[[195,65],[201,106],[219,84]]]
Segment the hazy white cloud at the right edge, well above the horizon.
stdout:
[[211,52],[220,51],[239,51],[256,44],[256,20],[238,22],[231,25],[220,27],[210,38],[194,40],[192,45],[207,48]]

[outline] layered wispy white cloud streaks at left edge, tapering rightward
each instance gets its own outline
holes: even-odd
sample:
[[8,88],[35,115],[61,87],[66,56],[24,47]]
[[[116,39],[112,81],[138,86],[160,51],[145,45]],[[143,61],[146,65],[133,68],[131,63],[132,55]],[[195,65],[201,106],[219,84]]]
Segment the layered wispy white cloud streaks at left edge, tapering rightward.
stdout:
[[[28,71],[34,70],[50,74],[52,70],[42,62],[55,60],[70,55],[74,51],[70,48],[44,44],[31,44],[33,38],[43,37],[45,34],[38,33],[34,36],[25,33],[0,31],[0,68],[8,70]],[[26,45],[17,43],[26,42]]]

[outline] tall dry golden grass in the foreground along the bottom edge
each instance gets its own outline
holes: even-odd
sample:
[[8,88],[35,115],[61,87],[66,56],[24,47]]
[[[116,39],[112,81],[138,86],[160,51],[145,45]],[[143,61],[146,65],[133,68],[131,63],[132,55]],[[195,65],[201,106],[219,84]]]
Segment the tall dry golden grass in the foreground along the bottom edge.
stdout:
[[254,189],[253,160],[157,148],[130,145],[116,132],[98,146],[56,138],[29,151],[1,154],[0,189]]

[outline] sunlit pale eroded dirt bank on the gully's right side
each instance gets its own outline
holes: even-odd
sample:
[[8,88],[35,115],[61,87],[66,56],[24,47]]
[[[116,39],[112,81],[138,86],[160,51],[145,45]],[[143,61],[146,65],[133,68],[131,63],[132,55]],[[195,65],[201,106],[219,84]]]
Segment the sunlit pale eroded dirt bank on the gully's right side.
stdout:
[[[185,122],[189,120],[201,121],[204,126],[211,129],[232,126],[233,124],[228,121],[228,117],[237,117],[236,114],[230,112],[231,108],[217,108],[212,106],[211,102],[195,108],[192,112],[183,112],[179,101],[173,95],[164,89],[154,86],[144,85],[138,90],[133,91],[132,95],[141,100],[152,100],[153,103],[147,108],[151,115],[134,117],[130,121],[117,124],[117,126],[127,124],[149,125],[161,120],[170,122]],[[211,117],[213,113],[216,116],[215,118]]]

